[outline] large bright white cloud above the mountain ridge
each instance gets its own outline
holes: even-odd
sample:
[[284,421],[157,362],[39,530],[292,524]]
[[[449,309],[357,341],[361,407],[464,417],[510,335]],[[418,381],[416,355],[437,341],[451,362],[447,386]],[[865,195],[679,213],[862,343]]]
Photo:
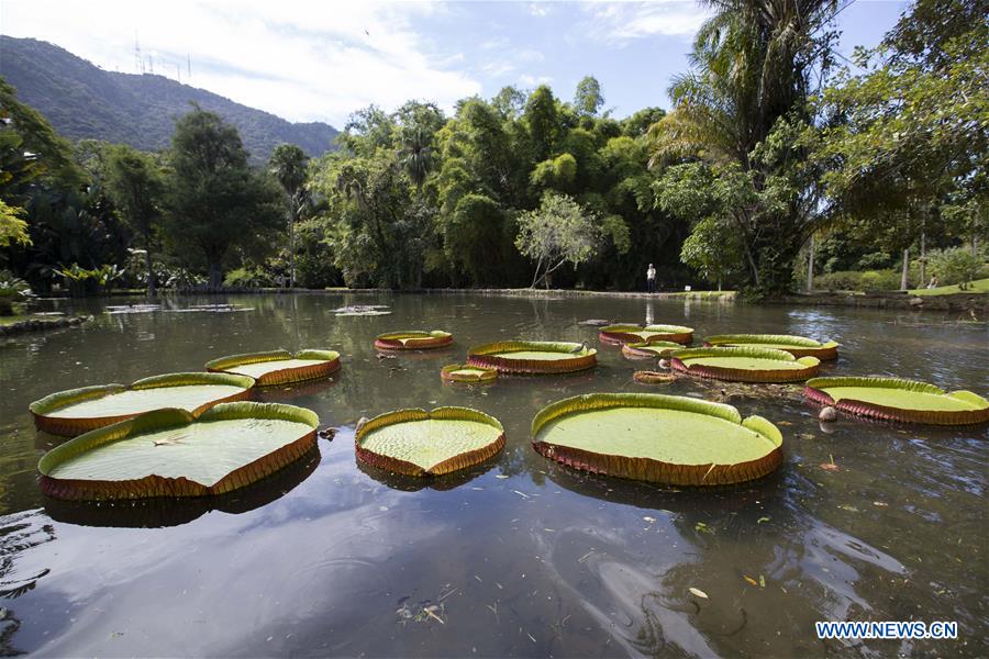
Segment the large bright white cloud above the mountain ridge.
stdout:
[[[411,98],[453,108],[479,81],[448,68],[460,53],[436,52],[412,20],[445,11],[433,3],[318,3],[251,0],[165,3],[3,0],[0,30],[65,47],[108,70],[134,72],[134,37],[155,72],[291,121],[341,126],[354,110]],[[146,57],[145,57],[146,59]]]

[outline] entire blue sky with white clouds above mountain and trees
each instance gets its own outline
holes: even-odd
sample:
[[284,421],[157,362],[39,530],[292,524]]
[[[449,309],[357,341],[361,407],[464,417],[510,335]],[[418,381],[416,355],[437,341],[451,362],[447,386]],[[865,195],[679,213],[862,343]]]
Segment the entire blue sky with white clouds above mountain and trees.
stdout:
[[[838,51],[874,46],[905,9],[857,0],[838,16]],[[107,70],[181,77],[293,122],[341,127],[368,104],[409,99],[452,111],[505,85],[548,83],[570,100],[587,75],[622,118],[669,108],[670,78],[704,10],[653,2],[169,2],[0,0],[0,33],[57,44]],[[2,57],[2,53],[0,53]],[[191,60],[191,78],[189,63]]]

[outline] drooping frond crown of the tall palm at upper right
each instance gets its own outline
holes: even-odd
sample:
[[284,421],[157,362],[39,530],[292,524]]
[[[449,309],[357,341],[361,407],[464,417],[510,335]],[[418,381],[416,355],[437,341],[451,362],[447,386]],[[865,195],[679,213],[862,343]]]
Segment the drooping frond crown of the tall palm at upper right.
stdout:
[[675,110],[651,130],[653,163],[682,155],[737,161],[802,105],[831,64],[827,26],[842,0],[700,0],[693,70],[669,88]]

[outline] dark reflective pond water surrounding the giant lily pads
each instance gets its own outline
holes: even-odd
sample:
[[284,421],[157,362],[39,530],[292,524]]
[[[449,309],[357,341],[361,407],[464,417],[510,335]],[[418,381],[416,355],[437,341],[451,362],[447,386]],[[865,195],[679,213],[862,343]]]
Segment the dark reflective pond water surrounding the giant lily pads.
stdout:
[[[168,299],[96,313],[81,328],[0,339],[0,651],[40,656],[877,656],[989,655],[982,427],[842,417],[823,429],[799,388],[679,379],[646,387],[585,319],[834,338],[824,373],[896,375],[989,393],[985,324],[873,310],[644,299],[308,294]],[[133,302],[138,302],[134,300]],[[232,303],[244,308],[191,309]],[[346,304],[389,315],[337,316]],[[188,313],[177,313],[187,310]],[[452,347],[378,359],[374,336],[443,328]],[[445,386],[467,347],[586,340],[593,371]],[[180,505],[47,501],[36,463],[62,439],[34,431],[47,393],[200,370],[233,353],[326,347],[332,380],[259,400],[340,428],[247,491]],[[593,391],[713,398],[785,437],[760,481],[677,490],[571,471],[530,446],[546,404]],[[358,466],[362,416],[467,405],[498,417],[505,449],[453,479]],[[834,463],[837,469],[822,465]],[[424,485],[424,487],[423,487]],[[690,589],[703,591],[702,599]],[[431,610],[433,615],[423,613]],[[440,618],[437,621],[436,618]],[[952,641],[821,641],[815,621],[957,621]]]

